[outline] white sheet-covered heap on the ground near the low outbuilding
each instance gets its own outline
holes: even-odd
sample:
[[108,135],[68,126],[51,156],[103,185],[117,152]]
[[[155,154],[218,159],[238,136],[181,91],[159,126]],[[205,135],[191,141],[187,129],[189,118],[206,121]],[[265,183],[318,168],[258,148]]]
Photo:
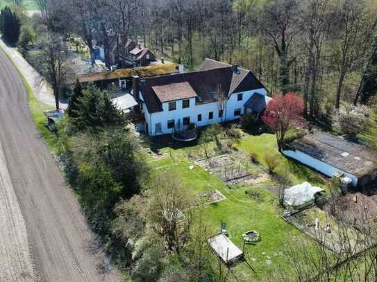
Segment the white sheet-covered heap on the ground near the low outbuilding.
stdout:
[[303,209],[305,206],[314,204],[315,197],[323,191],[319,187],[312,186],[308,182],[303,182],[285,190],[284,202],[286,206],[292,206],[294,209]]

